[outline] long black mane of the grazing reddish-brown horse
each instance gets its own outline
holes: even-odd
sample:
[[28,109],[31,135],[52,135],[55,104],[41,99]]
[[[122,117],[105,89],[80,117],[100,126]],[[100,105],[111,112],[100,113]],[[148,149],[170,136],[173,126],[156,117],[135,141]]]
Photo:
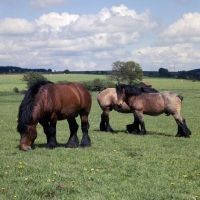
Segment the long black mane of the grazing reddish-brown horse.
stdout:
[[[34,108],[34,97],[38,93],[41,86],[52,83],[48,80],[38,80],[31,85],[31,87],[26,91],[24,99],[19,106],[18,113],[18,132],[26,132],[28,124],[32,118],[32,112]],[[53,83],[52,83],[53,84]]]

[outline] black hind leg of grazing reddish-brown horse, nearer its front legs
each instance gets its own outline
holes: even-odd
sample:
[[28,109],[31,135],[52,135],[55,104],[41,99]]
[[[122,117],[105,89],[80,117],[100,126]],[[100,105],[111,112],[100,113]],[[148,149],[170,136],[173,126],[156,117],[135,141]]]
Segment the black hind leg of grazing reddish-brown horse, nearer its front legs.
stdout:
[[77,130],[78,130],[78,124],[76,123],[75,117],[71,117],[67,119],[69,124],[69,130],[70,130],[70,136],[69,140],[66,143],[66,148],[76,148],[79,146],[79,140],[77,137]]

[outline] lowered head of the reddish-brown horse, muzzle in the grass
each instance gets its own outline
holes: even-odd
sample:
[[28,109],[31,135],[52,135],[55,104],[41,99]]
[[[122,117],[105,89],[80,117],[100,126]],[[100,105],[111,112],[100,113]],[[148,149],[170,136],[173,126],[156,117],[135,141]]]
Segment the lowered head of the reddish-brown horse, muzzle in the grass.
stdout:
[[19,149],[24,151],[32,148],[32,145],[37,137],[36,125],[28,125],[26,127],[26,129],[21,130],[18,128],[18,131],[20,132]]

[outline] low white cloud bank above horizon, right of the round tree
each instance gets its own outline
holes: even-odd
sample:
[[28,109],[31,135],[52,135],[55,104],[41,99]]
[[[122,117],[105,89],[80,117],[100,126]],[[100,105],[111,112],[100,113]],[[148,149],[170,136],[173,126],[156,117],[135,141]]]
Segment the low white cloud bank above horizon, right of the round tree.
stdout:
[[192,44],[177,44],[165,47],[147,47],[132,52],[132,59],[140,63],[143,70],[155,71],[163,67],[172,71],[199,68],[200,50]]

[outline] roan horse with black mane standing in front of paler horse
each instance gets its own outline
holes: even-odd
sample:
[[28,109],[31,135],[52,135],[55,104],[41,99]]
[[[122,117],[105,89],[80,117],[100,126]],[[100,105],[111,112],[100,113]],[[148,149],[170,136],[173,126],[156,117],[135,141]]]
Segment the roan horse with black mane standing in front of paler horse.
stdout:
[[190,137],[191,131],[188,129],[185,119],[180,115],[182,96],[168,91],[141,93],[137,87],[130,85],[117,85],[116,92],[118,106],[121,107],[126,102],[134,116],[139,120],[140,134],[146,133],[144,114],[157,116],[165,113],[167,116],[172,115],[178,125],[176,137]]

